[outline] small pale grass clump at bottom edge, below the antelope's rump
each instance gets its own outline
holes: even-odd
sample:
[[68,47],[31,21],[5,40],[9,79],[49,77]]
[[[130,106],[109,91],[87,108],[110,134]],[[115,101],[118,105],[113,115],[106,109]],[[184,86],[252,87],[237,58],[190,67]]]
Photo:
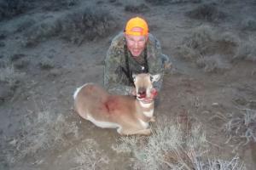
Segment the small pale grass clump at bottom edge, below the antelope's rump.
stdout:
[[98,147],[95,140],[85,139],[77,148],[76,156],[73,158],[78,166],[71,170],[106,169],[104,165],[108,164],[109,158],[97,150]]

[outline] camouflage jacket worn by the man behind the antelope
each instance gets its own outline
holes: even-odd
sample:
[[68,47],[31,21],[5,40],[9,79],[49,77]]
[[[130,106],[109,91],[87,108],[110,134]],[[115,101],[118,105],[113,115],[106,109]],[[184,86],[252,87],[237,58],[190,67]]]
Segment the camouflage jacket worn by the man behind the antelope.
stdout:
[[[160,42],[155,39],[151,34],[148,35],[148,42],[146,50],[143,53],[134,58],[128,51],[128,63],[131,74],[138,74],[145,71],[145,66],[148,63],[148,73],[160,74],[161,78],[159,82],[154,82],[154,88],[157,91],[160,90],[163,81],[163,64],[161,60],[161,48]],[[144,58],[147,52],[147,59]],[[125,36],[121,32],[119,35],[113,38],[108,53],[105,59],[104,67],[104,86],[111,94],[131,94],[131,90],[134,88],[133,84],[125,71],[127,71],[127,65],[125,60]]]

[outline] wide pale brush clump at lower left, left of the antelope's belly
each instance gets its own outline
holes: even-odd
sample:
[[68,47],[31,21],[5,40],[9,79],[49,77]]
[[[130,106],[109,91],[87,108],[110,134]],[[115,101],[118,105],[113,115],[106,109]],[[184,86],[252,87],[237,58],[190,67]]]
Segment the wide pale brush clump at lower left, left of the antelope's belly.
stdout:
[[39,111],[29,111],[21,120],[19,135],[9,139],[6,147],[9,164],[22,160],[26,156],[37,157],[40,150],[60,149],[70,144],[67,135],[78,138],[75,122],[67,122],[63,115],[56,115],[42,103]]

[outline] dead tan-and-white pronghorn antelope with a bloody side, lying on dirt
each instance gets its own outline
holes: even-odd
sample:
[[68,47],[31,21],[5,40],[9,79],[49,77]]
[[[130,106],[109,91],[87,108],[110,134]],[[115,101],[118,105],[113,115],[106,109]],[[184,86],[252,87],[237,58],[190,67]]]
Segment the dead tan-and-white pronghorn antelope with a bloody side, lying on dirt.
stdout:
[[149,135],[148,122],[154,122],[153,82],[160,75],[143,73],[134,75],[133,79],[136,97],[112,95],[96,84],[84,84],[73,94],[75,110],[97,127],[117,128],[123,135]]

